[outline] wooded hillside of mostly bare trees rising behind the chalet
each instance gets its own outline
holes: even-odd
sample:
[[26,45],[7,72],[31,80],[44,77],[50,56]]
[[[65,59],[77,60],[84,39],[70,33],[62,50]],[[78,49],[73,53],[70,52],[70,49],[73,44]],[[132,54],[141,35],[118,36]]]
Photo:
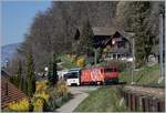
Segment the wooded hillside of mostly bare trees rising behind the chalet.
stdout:
[[[146,4],[148,6],[146,7]],[[81,30],[85,27],[85,21],[89,21],[91,27],[114,27],[114,29],[117,28],[121,31],[134,30],[133,32],[136,33],[137,35],[143,30],[144,31],[143,34],[152,35],[149,38],[156,40],[156,37],[158,35],[158,33],[156,32],[158,31],[157,17],[159,11],[164,10],[162,4],[164,3],[149,1],[148,2],[53,1],[45,11],[37,13],[35,17],[33,18],[32,24],[30,24],[30,28],[28,30],[29,32],[27,32],[25,33],[27,35],[24,35],[25,40],[22,44],[21,48],[22,51],[19,53],[19,55],[25,55],[24,53],[27,53],[29,47],[31,47],[32,51],[34,51],[33,58],[34,58],[34,65],[37,65],[35,70],[42,71],[44,66],[48,66],[52,51],[54,51],[56,54],[75,53],[75,51],[77,54],[82,54],[81,52],[83,52],[83,49],[87,48],[86,47],[87,40],[84,40],[83,38],[83,35],[86,34],[83,33],[83,30]],[[135,9],[136,6],[139,6],[138,9]],[[142,9],[145,10],[142,11]],[[148,13],[147,16],[146,14],[144,16],[143,20],[144,24],[147,24],[145,25],[145,28],[138,27],[142,24],[137,23],[138,18],[136,13],[138,11],[139,17],[142,17],[142,14],[144,16],[144,13],[142,12]],[[81,31],[81,33],[77,34],[76,33],[77,30]],[[154,30],[155,33],[157,34],[151,33],[151,32],[154,33]],[[73,45],[76,35],[80,35],[80,40],[83,40],[84,44]],[[135,42],[144,43],[144,40],[141,38],[142,37],[137,37]],[[149,45],[147,50],[152,49],[152,44],[149,43],[151,41],[146,42],[146,44]],[[137,54],[137,48],[139,47],[139,43],[135,44]],[[143,51],[146,50],[145,48],[146,47],[142,47],[142,50]]]

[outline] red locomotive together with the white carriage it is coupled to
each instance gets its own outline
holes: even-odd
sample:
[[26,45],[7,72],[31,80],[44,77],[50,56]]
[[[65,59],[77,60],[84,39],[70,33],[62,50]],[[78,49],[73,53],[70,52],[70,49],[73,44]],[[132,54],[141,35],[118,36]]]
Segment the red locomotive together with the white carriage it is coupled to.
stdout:
[[117,68],[89,68],[89,69],[71,69],[64,74],[66,85],[85,85],[85,84],[108,84],[118,83],[120,72]]

